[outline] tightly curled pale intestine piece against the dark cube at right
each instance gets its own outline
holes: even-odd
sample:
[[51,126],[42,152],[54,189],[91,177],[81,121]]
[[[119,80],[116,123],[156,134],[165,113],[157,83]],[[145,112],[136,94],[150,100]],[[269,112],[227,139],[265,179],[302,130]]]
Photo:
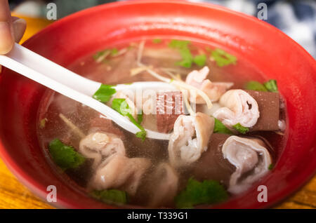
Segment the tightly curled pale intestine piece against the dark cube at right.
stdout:
[[247,128],[252,127],[260,116],[258,103],[244,90],[228,90],[220,97],[220,106],[213,116],[228,127],[237,123]]

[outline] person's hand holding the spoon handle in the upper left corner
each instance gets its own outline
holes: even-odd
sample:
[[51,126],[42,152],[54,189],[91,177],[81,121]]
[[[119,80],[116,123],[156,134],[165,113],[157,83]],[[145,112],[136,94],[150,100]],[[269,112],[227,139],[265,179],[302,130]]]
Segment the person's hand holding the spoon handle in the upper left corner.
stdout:
[[26,22],[11,16],[8,0],[0,0],[0,54],[6,54],[20,41],[25,32]]

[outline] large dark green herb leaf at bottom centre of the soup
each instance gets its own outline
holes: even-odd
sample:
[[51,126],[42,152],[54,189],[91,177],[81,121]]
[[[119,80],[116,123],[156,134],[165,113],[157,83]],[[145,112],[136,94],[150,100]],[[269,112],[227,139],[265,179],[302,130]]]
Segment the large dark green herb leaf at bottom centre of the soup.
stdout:
[[192,177],[187,187],[175,198],[176,208],[193,208],[199,204],[212,204],[225,201],[228,193],[223,185],[216,180],[199,182]]

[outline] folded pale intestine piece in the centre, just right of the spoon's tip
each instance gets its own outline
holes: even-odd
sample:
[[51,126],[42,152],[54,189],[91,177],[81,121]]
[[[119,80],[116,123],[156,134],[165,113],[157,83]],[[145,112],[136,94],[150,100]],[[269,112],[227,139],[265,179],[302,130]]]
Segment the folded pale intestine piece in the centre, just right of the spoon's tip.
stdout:
[[180,167],[197,161],[208,147],[213,128],[214,119],[206,114],[178,116],[168,146],[171,165]]

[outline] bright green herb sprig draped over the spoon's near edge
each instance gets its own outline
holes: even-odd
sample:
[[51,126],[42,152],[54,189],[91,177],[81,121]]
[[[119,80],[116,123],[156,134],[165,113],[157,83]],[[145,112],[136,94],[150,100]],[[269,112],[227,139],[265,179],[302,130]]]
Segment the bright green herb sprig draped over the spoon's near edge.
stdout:
[[119,114],[123,116],[129,117],[129,120],[137,126],[137,128],[140,129],[140,132],[136,133],[136,137],[141,138],[143,141],[146,138],[146,130],[143,128],[143,126],[140,126],[140,123],[138,121],[143,121],[143,115],[141,118],[138,116],[138,121],[134,119],[134,117],[131,115],[131,109],[129,108],[129,104],[127,104],[126,100],[124,98],[114,98],[112,101],[112,109],[119,112]]

